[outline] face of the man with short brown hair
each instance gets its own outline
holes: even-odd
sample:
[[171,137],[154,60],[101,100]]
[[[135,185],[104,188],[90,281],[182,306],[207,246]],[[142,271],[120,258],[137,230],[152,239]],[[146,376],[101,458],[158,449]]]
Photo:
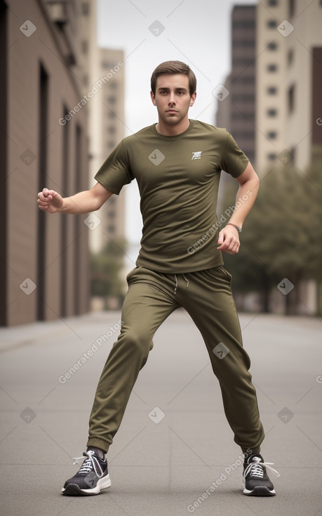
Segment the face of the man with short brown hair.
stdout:
[[189,108],[194,105],[196,93],[190,96],[189,77],[185,74],[159,75],[156,79],[156,94],[151,98],[158,110],[159,118],[168,125],[179,124]]

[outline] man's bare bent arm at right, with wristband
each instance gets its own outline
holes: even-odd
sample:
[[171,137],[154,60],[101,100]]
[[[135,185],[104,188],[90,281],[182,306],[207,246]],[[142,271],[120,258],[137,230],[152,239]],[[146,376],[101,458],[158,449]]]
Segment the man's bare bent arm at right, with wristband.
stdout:
[[243,227],[243,222],[255,202],[258,188],[260,188],[260,180],[250,162],[248,162],[243,173],[236,177],[236,180],[239,182],[239,190],[236,194],[234,213],[227,225],[220,231],[218,237],[220,247],[217,247],[217,249],[228,254],[239,252],[239,246],[241,245],[239,242],[239,231],[232,224],[239,228]]

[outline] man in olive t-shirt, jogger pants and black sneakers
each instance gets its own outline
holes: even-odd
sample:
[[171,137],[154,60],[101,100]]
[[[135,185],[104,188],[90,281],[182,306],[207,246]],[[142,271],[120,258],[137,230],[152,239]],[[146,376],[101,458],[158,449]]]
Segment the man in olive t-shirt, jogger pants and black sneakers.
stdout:
[[[86,459],[62,492],[93,495],[111,485],[105,453],[153,347],[154,333],[175,309],[184,307],[201,331],[234,440],[244,453],[243,493],[274,496],[266,471],[272,468],[260,455],[264,430],[232,298],[232,277],[221,254],[239,251],[239,233],[259,180],[225,129],[189,120],[196,77],[188,65],[161,63],[152,74],[151,89],[159,122],[124,138],[90,191],[64,199],[47,188],[39,193],[39,208],[48,213],[88,213],[136,179],[143,219],[140,253],[127,276],[121,334],[102,371],[90,415]],[[219,232],[216,203],[222,169],[239,182],[240,201]]]

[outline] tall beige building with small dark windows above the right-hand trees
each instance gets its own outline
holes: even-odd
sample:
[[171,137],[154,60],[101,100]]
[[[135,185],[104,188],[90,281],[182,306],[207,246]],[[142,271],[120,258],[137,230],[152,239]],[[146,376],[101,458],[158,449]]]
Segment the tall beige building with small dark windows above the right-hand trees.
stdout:
[[264,0],[256,16],[256,162],[302,172],[322,143],[322,2]]

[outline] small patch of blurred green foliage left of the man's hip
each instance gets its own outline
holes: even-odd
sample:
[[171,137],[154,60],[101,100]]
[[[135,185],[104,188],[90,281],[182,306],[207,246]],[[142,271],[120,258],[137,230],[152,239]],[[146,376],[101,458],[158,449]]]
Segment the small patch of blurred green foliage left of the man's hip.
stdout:
[[123,258],[125,240],[109,240],[104,249],[90,258],[90,293],[93,296],[123,297]]

